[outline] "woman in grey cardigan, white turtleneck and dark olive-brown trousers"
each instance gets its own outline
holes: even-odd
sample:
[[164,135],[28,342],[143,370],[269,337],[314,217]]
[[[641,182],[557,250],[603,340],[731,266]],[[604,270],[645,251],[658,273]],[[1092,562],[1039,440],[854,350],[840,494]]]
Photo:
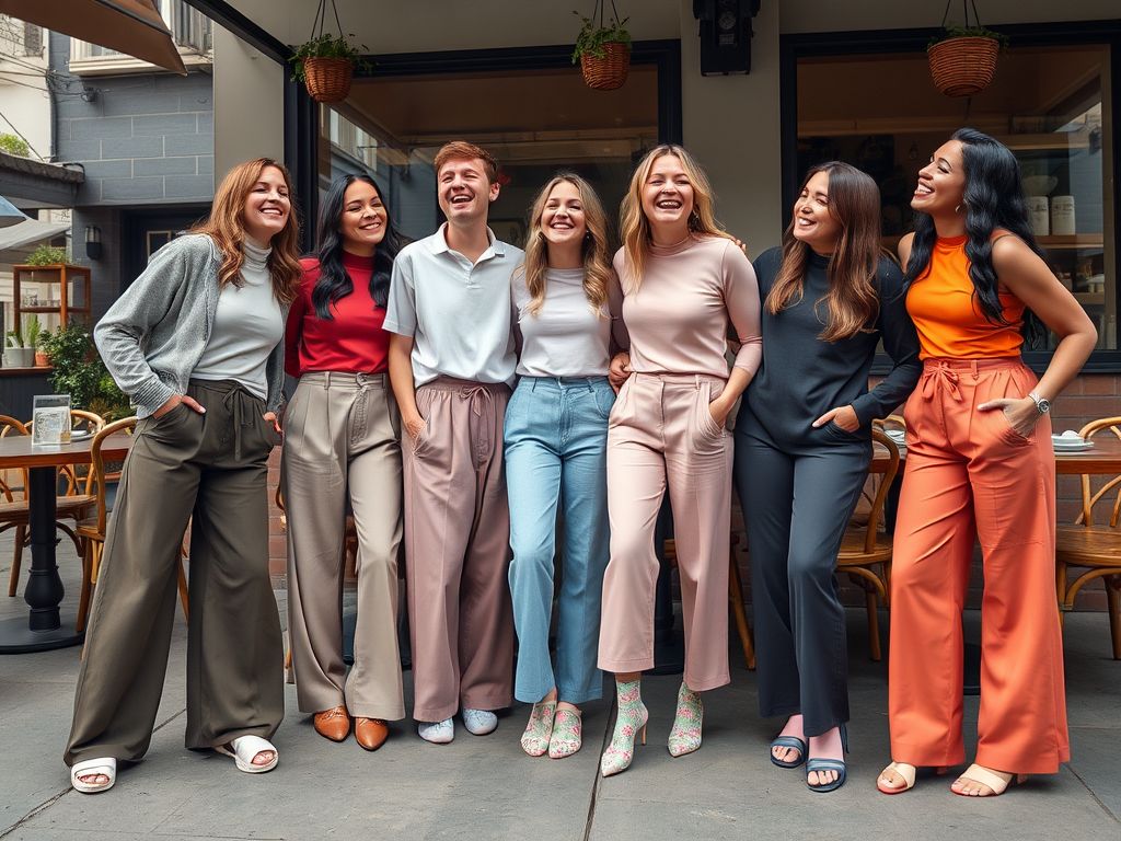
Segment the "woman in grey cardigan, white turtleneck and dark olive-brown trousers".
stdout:
[[[279,443],[285,313],[302,276],[291,179],[232,169],[209,221],[157,251],[95,331],[139,418],[105,539],[64,759],[80,792],[148,750],[191,525],[186,746],[259,774],[284,718],[269,580],[268,458]],[[193,519],[192,519],[193,518]]]

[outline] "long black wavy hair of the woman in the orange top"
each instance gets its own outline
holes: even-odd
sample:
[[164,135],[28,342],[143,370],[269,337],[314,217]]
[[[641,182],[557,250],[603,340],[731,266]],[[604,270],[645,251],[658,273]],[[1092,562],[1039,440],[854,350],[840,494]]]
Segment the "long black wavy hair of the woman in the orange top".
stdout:
[[[965,233],[969,237],[965,256],[970,261],[973,296],[981,314],[990,324],[1007,325],[1010,322],[1004,317],[1000,305],[1000,281],[992,267],[993,231],[998,228],[1010,231],[1023,240],[1040,259],[1047,259],[1036,244],[1028,223],[1020,165],[1007,146],[976,129],[958,129],[951,139],[962,144],[962,165],[965,170],[962,204],[965,211]],[[926,274],[936,239],[934,220],[929,214],[916,212],[915,240],[904,276],[904,289]],[[1031,346],[1044,338],[1046,331],[1038,316],[1030,309],[1025,309],[1020,333]]]

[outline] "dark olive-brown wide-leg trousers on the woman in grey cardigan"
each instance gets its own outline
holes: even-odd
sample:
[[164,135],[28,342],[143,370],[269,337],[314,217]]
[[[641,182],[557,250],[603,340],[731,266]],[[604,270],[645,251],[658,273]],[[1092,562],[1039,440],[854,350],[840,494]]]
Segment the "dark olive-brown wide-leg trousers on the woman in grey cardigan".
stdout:
[[269,580],[265,401],[192,380],[137,425],[109,524],[64,759],[139,759],[151,741],[191,525],[186,746],[268,739],[284,718],[284,647]]

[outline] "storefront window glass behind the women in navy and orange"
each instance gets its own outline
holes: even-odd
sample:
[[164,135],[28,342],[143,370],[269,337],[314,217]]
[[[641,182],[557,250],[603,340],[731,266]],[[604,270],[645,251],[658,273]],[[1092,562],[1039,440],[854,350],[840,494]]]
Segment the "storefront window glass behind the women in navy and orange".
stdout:
[[972,99],[941,94],[924,53],[799,57],[798,177],[828,159],[869,173],[893,247],[934,150],[963,126],[992,135],[1020,161],[1038,242],[1097,326],[1097,348],[1117,350],[1111,57],[1109,45],[1013,45]]

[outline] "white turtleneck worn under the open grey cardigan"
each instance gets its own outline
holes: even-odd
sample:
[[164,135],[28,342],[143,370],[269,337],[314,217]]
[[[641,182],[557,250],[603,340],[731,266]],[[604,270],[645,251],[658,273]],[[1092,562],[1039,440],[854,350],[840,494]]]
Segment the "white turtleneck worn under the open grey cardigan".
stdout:
[[214,325],[191,377],[235,380],[266,399],[266,364],[284,339],[284,315],[269,278],[272,249],[261,248],[247,237],[243,252],[241,279],[237,285],[226,284],[219,293]]

